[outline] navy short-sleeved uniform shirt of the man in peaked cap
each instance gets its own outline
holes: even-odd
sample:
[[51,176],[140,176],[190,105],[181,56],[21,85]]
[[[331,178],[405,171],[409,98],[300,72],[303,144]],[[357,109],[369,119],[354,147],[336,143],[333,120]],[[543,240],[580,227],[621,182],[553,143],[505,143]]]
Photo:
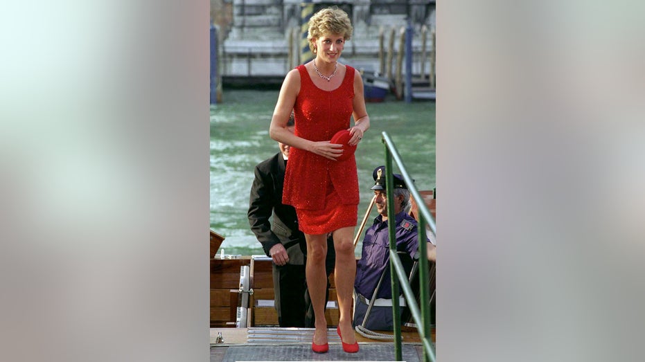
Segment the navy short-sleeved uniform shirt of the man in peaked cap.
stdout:
[[[406,275],[412,269],[413,259],[418,253],[417,224],[414,217],[405,212],[399,212],[396,217],[396,250],[405,267]],[[374,223],[365,232],[363,239],[362,255],[356,266],[356,280],[354,288],[357,293],[367,299],[371,299],[385,269],[385,277],[381,282],[376,298],[391,299],[392,289],[390,285],[389,266],[389,231],[387,221],[382,221],[382,215],[374,219]]]

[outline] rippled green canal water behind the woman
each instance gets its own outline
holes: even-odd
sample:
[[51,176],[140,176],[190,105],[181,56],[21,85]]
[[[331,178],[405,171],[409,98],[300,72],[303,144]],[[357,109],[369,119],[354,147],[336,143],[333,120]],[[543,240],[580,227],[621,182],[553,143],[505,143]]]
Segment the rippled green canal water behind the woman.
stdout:
[[[226,254],[263,254],[249,230],[247,210],[253,170],[257,163],[278,152],[269,137],[277,90],[224,90],[223,100],[211,105],[211,229],[225,237]],[[405,169],[418,190],[435,185],[435,103],[405,103],[388,96],[368,103],[371,127],[356,150],[360,206],[357,225],[369,206],[372,171],[385,164],[382,132],[388,132],[401,154]],[[372,210],[371,219],[376,217]],[[360,255],[360,245],[357,246]]]

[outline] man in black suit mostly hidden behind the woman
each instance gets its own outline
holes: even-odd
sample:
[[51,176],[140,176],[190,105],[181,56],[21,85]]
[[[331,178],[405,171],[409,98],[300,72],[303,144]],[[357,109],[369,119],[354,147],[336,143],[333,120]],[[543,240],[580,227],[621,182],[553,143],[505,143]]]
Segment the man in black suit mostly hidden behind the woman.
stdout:
[[[287,125],[293,132],[293,117]],[[290,146],[283,143],[278,145],[278,154],[256,165],[249,199],[249,224],[265,254],[273,260],[274,298],[280,327],[314,327],[315,318],[305,277],[305,235],[298,228],[296,210],[293,206],[282,203]],[[329,275],[334,269],[335,260],[331,237],[328,238],[327,245]]]

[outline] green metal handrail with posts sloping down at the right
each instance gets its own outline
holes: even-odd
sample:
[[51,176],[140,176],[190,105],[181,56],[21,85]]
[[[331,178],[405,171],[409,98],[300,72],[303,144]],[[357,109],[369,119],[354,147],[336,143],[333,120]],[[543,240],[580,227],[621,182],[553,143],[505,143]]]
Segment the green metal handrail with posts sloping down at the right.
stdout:
[[420,290],[420,300],[421,300],[421,311],[419,311],[419,306],[416,303],[416,298],[414,297],[414,292],[412,287],[407,280],[407,275],[405,275],[405,269],[403,269],[403,264],[396,254],[396,228],[388,228],[389,230],[389,260],[390,260],[390,273],[391,275],[396,275],[397,278],[391,279],[392,287],[392,314],[394,314],[394,354],[396,356],[396,361],[403,361],[403,350],[401,347],[401,317],[398,313],[399,311],[399,302],[398,298],[395,296],[399,295],[399,285],[403,288],[403,295],[405,296],[405,301],[407,306],[410,309],[412,318],[414,318],[414,323],[417,325],[418,334],[421,337],[421,342],[423,343],[423,359],[424,361],[436,361],[434,347],[432,347],[432,329],[430,327],[430,303],[426,302],[430,300],[430,291],[428,290],[427,280],[428,280],[428,261],[427,261],[427,245],[425,236],[425,227],[426,225],[430,226],[432,233],[436,235],[436,225],[434,224],[434,219],[430,214],[430,210],[425,206],[425,201],[423,197],[416,190],[414,181],[401,160],[398,151],[394,142],[391,140],[387,132],[383,132],[383,143],[385,143],[385,188],[387,189],[387,219],[394,220],[394,176],[392,172],[392,159],[396,162],[398,169],[400,170],[405,184],[412,194],[414,201],[418,206],[419,210],[419,221],[418,221],[418,244],[419,244],[419,290]]

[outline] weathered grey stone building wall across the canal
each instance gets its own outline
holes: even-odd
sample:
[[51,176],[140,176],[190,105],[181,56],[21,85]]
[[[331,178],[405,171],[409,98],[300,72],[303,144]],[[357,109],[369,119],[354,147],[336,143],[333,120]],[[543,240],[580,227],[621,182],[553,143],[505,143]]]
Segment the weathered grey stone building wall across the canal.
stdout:
[[[302,0],[211,0],[211,17],[220,19],[223,38],[220,71],[224,78],[281,79],[299,64],[300,13]],[[379,33],[385,34],[385,51],[391,29],[395,28],[395,51],[399,51],[399,30],[411,22],[413,51],[421,51],[421,27],[434,29],[435,1],[430,0],[348,0],[312,1],[315,11],[336,5],[348,12],[354,33],[341,62],[358,69],[378,71]],[[213,9],[219,12],[213,12]],[[228,13],[227,13],[228,12]],[[230,14],[230,17],[229,17]],[[232,17],[232,19],[231,19]],[[292,43],[290,44],[290,39]],[[432,37],[428,35],[426,47]],[[291,49],[291,53],[290,53]],[[289,55],[292,57],[289,57]],[[396,59],[396,57],[395,57]],[[413,57],[413,72],[421,69],[421,56]],[[425,69],[429,69],[429,60]]]

